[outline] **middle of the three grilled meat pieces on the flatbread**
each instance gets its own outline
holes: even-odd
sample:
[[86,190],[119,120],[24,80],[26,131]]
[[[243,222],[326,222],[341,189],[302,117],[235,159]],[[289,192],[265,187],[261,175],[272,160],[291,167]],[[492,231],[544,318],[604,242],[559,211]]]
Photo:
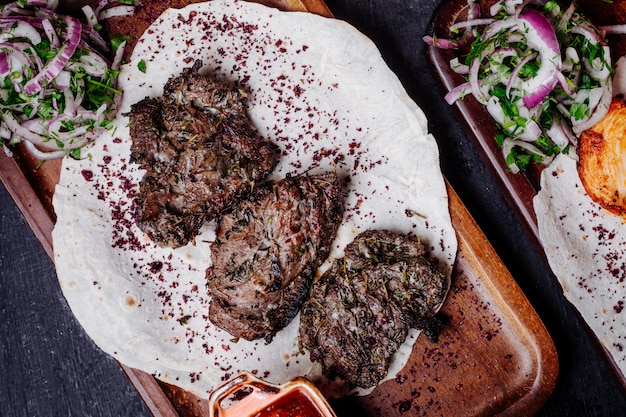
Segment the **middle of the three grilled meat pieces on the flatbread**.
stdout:
[[334,174],[288,176],[223,215],[207,269],[211,322],[236,337],[271,341],[308,297],[343,200]]

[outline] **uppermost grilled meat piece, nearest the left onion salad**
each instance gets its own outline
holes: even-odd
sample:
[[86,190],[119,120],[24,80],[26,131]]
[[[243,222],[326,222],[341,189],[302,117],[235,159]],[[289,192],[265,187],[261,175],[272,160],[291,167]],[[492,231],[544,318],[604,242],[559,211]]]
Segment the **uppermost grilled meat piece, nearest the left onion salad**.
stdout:
[[277,163],[277,147],[252,127],[247,97],[198,73],[201,62],[130,111],[131,160],[147,172],[139,227],[164,246],[183,246],[232,208]]

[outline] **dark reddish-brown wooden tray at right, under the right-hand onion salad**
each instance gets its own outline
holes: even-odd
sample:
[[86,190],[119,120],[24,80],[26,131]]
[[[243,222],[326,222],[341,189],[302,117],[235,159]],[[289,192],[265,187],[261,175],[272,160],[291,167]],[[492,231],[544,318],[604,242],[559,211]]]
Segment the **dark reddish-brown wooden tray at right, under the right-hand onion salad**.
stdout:
[[[493,2],[494,0],[482,0],[480,4],[486,12],[489,5]],[[626,23],[626,0],[581,0],[577,2],[577,6],[578,11],[582,12],[596,25]],[[467,0],[443,0],[433,14],[427,33],[435,34],[441,38],[449,37],[450,25],[459,19],[464,19],[466,13]],[[626,36],[612,36],[609,37],[608,41],[611,46],[613,62],[618,57],[626,54]],[[455,56],[454,51],[427,46],[426,53],[433,72],[443,87],[443,92],[447,92],[465,81],[460,75],[450,69],[449,62]],[[504,197],[516,213],[537,252],[543,257],[547,265],[548,261],[539,240],[537,217],[533,208],[533,198],[540,189],[541,168],[533,166],[527,172],[521,174],[512,174],[507,171],[502,151],[494,140],[495,134],[498,133],[496,125],[486,109],[472,96],[458,100],[453,108],[495,178]],[[556,277],[554,279],[556,280]],[[626,390],[626,375],[621,373],[612,356],[589,329],[577,310],[576,314],[580,322],[585,325],[587,331],[591,334],[596,345],[603,351],[605,359],[610,364],[622,388]]]

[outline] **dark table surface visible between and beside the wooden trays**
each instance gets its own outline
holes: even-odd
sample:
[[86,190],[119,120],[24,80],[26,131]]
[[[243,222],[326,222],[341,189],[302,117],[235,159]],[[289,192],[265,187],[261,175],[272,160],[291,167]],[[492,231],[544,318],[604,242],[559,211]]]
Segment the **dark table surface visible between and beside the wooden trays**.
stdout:
[[[537,310],[560,358],[540,416],[620,416],[626,393],[490,178],[430,72],[422,36],[439,0],[327,0],[369,36],[426,112],[445,176]],[[390,109],[393,111],[393,109]],[[0,186],[0,416],[148,416],[117,362],[76,322],[54,267]]]

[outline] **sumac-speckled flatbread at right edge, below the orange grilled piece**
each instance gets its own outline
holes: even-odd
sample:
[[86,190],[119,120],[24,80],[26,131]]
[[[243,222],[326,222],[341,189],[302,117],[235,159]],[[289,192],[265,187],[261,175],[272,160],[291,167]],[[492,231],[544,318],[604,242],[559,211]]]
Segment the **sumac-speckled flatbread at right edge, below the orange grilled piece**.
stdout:
[[534,207],[565,297],[626,375],[626,224],[591,200],[565,155],[543,171]]

